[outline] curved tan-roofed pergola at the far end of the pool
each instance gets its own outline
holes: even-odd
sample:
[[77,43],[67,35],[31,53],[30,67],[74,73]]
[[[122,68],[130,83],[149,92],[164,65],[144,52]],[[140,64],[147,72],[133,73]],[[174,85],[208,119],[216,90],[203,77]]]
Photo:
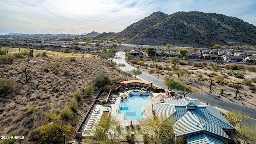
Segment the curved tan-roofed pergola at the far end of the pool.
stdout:
[[125,86],[125,87],[136,87],[139,86],[140,88],[142,86],[146,86],[148,88],[148,85],[150,84],[150,87],[152,88],[152,82],[144,81],[144,80],[126,80],[123,82],[120,82],[120,86]]

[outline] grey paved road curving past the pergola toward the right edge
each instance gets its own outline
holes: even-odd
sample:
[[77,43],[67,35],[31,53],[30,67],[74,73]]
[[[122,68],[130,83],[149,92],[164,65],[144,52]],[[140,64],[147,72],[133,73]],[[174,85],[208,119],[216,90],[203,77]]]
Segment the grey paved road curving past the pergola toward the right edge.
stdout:
[[[122,67],[122,70],[124,70],[124,71],[131,71],[133,69],[136,69],[132,65],[125,62],[124,54],[125,54],[125,52],[117,52],[113,61],[117,62],[118,64],[119,63],[125,64],[126,66]],[[154,85],[167,89],[167,87],[164,85],[164,80],[159,79],[150,74],[147,74],[145,72],[142,72],[142,74],[137,76],[137,78],[139,78],[141,80],[146,80],[148,82],[153,82]],[[216,96],[212,96],[211,94],[205,95],[205,94],[200,94],[197,92],[197,93],[193,93],[193,94],[187,94],[186,97],[192,98],[192,99],[198,99],[200,102],[203,102],[205,104],[208,103],[208,104],[214,105],[223,110],[230,110],[230,109],[240,110],[242,113],[249,115],[248,120],[250,122],[253,122],[254,124],[256,124],[256,109],[248,108],[246,106],[235,104],[233,102],[224,101],[219,98],[216,98]]]

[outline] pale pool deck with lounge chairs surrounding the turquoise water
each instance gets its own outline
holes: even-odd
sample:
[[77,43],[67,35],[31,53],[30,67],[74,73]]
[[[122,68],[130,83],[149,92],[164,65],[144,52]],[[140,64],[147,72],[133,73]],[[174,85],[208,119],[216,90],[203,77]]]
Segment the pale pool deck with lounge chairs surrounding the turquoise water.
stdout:
[[[162,102],[162,100],[160,100],[160,98],[155,98],[156,96],[159,95],[159,93],[151,93],[151,92],[147,92],[144,90],[126,90],[123,93],[116,93],[113,95],[116,95],[116,100],[112,101],[111,103],[108,103],[108,107],[106,105],[100,105],[100,104],[96,104],[92,110],[92,112],[90,112],[90,115],[88,118],[86,118],[86,121],[84,122],[83,126],[82,126],[82,136],[93,136],[94,135],[94,126],[97,122],[99,122],[102,114],[104,111],[111,111],[111,115],[115,116],[119,121],[120,121],[120,132],[118,132],[118,134],[122,135],[122,137],[119,136],[119,139],[125,139],[125,135],[126,134],[131,134],[131,132],[135,132],[138,133],[138,130],[130,130],[130,124],[131,121],[134,124],[134,126],[136,126],[136,124],[138,124],[138,120],[124,120],[124,114],[118,114],[118,110],[119,110],[119,105],[121,102],[121,96],[123,94],[125,94],[126,96],[128,96],[128,94],[130,92],[133,91],[139,91],[139,92],[143,92],[143,95],[148,95],[149,100],[150,100],[150,105],[142,105],[142,114],[143,114],[143,118],[146,117],[152,117],[152,109],[155,110],[156,106],[155,103],[160,103]],[[128,124],[129,129],[126,130],[125,127]],[[111,134],[113,134],[114,132],[111,132],[110,130],[108,130],[109,133],[109,138],[111,138]],[[138,138],[140,139],[140,138]]]

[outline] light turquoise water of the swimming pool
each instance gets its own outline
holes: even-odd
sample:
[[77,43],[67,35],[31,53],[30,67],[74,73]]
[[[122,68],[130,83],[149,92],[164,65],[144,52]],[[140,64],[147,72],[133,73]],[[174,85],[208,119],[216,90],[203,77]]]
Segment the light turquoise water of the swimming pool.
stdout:
[[130,96],[128,100],[121,100],[119,114],[124,114],[124,120],[142,119],[142,105],[150,105],[149,96]]

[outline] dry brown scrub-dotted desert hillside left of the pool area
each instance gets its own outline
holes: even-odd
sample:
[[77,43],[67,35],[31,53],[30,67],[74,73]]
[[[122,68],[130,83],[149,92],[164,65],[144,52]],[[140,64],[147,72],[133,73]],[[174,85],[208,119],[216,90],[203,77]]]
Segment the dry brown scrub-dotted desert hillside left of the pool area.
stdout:
[[[120,78],[117,71],[98,57],[25,56],[13,62],[0,61],[1,82],[15,83],[10,91],[0,92],[0,136],[15,134],[24,136],[25,140],[20,140],[22,143],[38,142],[42,135],[37,130],[45,124],[46,116],[61,115],[62,109],[77,101],[78,108],[73,107],[72,115],[69,118],[62,116],[62,123],[72,126],[68,138],[74,138],[72,132],[100,90],[93,85],[94,94],[90,96],[83,94],[84,88],[92,84],[91,79],[101,72],[114,78],[112,82]],[[74,100],[77,91],[83,97]]]

